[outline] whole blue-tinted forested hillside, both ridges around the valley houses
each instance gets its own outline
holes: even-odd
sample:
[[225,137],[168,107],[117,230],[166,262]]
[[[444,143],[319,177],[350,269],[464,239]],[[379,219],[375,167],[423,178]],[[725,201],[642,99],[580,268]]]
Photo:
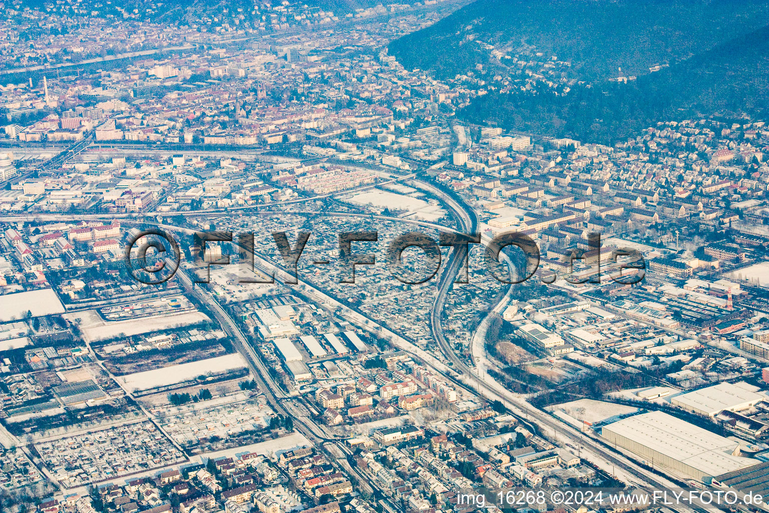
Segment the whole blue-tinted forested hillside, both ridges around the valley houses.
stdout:
[[[458,112],[470,122],[611,143],[659,121],[691,116],[769,115],[769,27],[762,2],[609,2],[478,0],[440,22],[392,42],[406,68],[451,79],[504,66],[488,42],[513,54],[521,41],[571,61],[568,94],[542,82],[531,90],[474,98]],[[507,43],[505,43],[507,42]],[[531,48],[528,48],[531,51]],[[652,65],[670,63],[661,71]],[[608,78],[637,75],[628,83]],[[518,77],[520,82],[520,77]]]

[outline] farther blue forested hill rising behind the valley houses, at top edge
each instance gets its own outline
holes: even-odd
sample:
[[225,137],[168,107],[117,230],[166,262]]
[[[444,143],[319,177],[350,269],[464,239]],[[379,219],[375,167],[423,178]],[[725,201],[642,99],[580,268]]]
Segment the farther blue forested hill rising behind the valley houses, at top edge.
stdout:
[[582,80],[643,75],[752,32],[769,20],[757,0],[478,0],[388,46],[407,69],[453,78],[484,56],[474,40],[534,45],[571,61]]

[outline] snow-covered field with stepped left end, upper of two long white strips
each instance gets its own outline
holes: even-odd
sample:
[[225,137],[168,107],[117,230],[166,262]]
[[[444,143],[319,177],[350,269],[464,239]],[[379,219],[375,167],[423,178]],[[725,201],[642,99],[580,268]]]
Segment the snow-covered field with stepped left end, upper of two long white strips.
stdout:
[[75,319],[80,318],[80,330],[82,331],[83,338],[89,342],[107,340],[121,334],[126,337],[141,335],[141,333],[179,328],[209,320],[208,316],[200,311],[152,315],[151,317],[142,317],[129,321],[104,321],[95,310],[68,313],[64,317],[75,323],[77,322]]

